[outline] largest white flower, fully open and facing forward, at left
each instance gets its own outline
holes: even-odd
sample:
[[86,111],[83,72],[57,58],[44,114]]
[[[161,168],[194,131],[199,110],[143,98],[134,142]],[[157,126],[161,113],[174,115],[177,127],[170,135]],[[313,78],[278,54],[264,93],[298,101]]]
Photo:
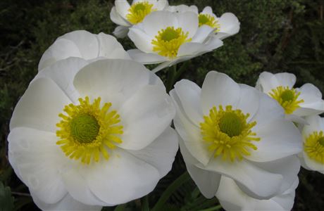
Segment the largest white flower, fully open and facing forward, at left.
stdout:
[[132,60],[67,58],[20,98],[8,156],[43,210],[100,210],[151,192],[177,151],[161,80]]

